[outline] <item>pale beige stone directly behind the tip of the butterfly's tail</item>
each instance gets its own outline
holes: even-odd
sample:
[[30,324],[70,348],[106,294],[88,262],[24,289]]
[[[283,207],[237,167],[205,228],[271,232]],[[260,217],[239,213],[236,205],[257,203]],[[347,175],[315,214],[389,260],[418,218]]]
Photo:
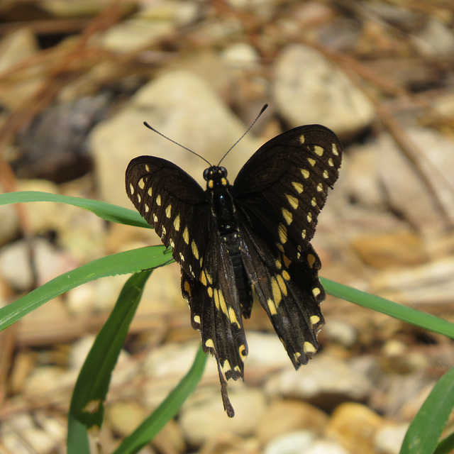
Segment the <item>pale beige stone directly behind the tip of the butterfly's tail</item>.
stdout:
[[228,396],[235,409],[234,418],[228,418],[223,410],[219,387],[198,389],[187,399],[179,412],[179,422],[189,445],[198,447],[221,432],[243,437],[255,433],[265,414],[264,394],[229,382]]

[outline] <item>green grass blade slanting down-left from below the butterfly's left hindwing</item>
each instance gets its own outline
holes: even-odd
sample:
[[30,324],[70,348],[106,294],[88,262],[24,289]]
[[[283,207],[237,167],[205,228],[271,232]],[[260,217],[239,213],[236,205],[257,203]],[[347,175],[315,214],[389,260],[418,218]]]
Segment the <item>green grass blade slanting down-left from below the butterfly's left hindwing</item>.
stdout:
[[160,406],[131,433],[118,447],[114,454],[133,454],[150,442],[153,437],[170,421],[199,383],[206,364],[206,355],[201,346],[196,354],[191,369],[177,387],[170,392]]

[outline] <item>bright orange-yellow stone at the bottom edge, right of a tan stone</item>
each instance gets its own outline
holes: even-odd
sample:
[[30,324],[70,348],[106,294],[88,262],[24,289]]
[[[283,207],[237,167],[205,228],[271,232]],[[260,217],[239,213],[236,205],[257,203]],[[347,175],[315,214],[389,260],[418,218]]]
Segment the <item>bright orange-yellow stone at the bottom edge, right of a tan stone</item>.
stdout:
[[348,402],[333,411],[326,434],[351,454],[375,454],[375,436],[383,425],[384,419],[367,406]]

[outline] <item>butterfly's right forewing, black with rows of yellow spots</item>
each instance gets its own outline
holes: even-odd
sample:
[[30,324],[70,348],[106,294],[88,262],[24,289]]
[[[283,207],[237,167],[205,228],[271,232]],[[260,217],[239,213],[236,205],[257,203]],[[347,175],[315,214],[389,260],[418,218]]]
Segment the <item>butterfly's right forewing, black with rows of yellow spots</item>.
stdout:
[[300,126],[262,145],[236,177],[236,204],[292,259],[302,257],[301,245],[314,236],[328,188],[338,178],[341,153],[328,128]]

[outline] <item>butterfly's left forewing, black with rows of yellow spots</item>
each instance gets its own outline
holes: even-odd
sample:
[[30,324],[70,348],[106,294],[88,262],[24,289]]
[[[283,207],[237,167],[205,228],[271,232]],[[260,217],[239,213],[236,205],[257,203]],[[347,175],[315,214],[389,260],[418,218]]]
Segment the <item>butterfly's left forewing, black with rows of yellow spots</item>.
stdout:
[[198,279],[209,236],[204,190],[172,162],[140,156],[126,170],[126,192],[183,270]]

